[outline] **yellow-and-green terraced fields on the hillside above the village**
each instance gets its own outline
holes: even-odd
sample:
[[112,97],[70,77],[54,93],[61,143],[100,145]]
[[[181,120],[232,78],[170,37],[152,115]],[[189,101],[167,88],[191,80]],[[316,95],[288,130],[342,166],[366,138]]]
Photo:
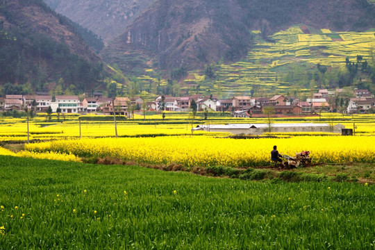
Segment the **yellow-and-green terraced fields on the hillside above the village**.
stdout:
[[[249,95],[252,89],[256,96],[288,92],[309,95],[315,87],[309,82],[311,75],[317,72],[317,64],[344,67],[347,57],[351,62],[356,62],[358,55],[370,63],[371,51],[375,48],[375,29],[361,33],[336,32],[328,28],[300,25],[274,33],[267,41],[261,38],[260,31],[253,31],[253,38],[253,49],[247,58],[230,65],[216,64],[214,78],[205,76],[199,70],[188,72],[183,83],[171,86],[173,92],[182,95],[217,94],[222,98]],[[294,74],[294,77],[301,79],[297,82],[304,80],[304,83],[285,81],[287,74]],[[363,78],[362,81],[367,79]],[[156,92],[158,86],[165,88],[168,84],[153,69],[146,69],[145,75],[138,77],[138,83],[151,92]]]

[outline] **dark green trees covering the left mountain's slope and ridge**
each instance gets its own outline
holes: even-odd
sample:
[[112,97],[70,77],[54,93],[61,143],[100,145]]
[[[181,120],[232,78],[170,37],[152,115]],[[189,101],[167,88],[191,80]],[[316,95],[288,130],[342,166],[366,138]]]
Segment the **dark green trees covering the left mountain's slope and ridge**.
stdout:
[[[57,82],[59,78],[64,79],[63,88],[73,84],[77,91],[84,91],[88,85],[97,83],[103,77],[102,63],[89,62],[73,54],[67,44],[38,33],[35,27],[23,25],[18,13],[10,10],[6,4],[0,6],[0,15],[6,17],[6,22],[11,25],[0,23],[0,83],[17,85],[13,90],[5,92],[28,94],[19,87],[26,82],[31,84],[31,90],[27,91],[46,91],[44,83]],[[57,15],[42,1],[20,1],[19,8],[24,8],[22,6],[38,6],[56,15],[60,24],[74,32],[74,27],[66,17]]]

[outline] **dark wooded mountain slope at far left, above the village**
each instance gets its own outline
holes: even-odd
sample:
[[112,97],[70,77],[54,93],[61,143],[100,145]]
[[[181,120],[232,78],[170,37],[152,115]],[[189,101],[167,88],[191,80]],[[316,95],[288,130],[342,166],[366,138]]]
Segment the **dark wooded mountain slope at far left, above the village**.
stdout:
[[5,94],[49,90],[49,83],[59,80],[62,89],[85,90],[102,74],[101,59],[67,18],[41,0],[0,1],[0,83],[8,83]]

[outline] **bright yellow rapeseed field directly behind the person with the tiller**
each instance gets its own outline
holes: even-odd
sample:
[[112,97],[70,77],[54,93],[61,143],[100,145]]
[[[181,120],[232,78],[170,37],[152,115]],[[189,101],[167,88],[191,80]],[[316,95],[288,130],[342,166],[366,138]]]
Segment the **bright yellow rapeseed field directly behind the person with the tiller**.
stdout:
[[210,137],[97,138],[58,140],[27,144],[32,152],[56,152],[78,157],[107,156],[137,163],[186,167],[256,167],[270,164],[274,145],[279,153],[294,156],[310,151],[315,163],[375,163],[375,138],[372,136],[303,136],[235,140]]

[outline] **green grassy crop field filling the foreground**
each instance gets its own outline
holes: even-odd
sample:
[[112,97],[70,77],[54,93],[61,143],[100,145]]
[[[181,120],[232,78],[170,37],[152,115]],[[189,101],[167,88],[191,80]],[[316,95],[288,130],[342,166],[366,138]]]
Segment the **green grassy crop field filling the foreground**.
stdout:
[[374,249],[375,189],[0,156],[1,249]]

